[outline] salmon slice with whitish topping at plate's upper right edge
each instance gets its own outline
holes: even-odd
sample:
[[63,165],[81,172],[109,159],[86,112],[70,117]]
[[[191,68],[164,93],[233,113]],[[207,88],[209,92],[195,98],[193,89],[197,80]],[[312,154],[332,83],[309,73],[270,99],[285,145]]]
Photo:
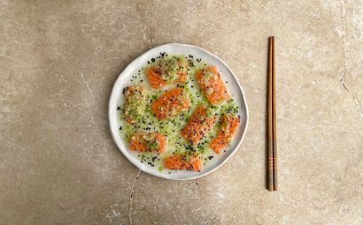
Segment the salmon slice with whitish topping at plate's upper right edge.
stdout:
[[224,85],[216,66],[197,71],[196,78],[198,85],[212,104],[230,99],[227,87]]

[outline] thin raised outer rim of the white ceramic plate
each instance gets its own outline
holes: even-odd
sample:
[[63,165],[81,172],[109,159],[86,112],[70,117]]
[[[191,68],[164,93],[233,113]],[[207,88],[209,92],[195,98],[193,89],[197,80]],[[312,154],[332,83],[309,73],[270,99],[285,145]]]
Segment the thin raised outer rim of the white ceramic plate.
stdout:
[[[142,167],[140,167],[138,164],[136,164],[134,161],[132,161],[130,159],[130,157],[133,157],[133,156],[129,156],[129,155],[127,155],[127,154],[124,153],[124,151],[128,151],[128,149],[123,150],[122,147],[119,146],[119,143],[115,139],[115,135],[116,134],[114,133],[114,131],[112,131],[112,123],[114,123],[114,122],[112,122],[112,120],[114,120],[114,118],[112,119],[112,115],[111,115],[112,114],[112,109],[113,109],[112,108],[112,97],[115,96],[115,92],[116,92],[116,89],[117,89],[116,88],[117,87],[116,85],[120,82],[119,80],[121,79],[121,74],[124,71],[127,71],[127,69],[129,69],[129,67],[131,67],[132,64],[135,61],[137,61],[139,58],[143,57],[144,55],[148,54],[153,49],[163,48],[163,47],[165,48],[165,47],[170,47],[170,46],[182,46],[182,47],[185,47],[185,48],[198,49],[198,50],[204,52],[205,54],[210,55],[212,57],[215,57],[217,60],[219,60],[220,63],[223,64],[224,66],[226,66],[226,68],[228,69],[228,71],[236,79],[236,84],[239,87],[240,91],[242,92],[242,99],[243,99],[243,104],[244,104],[244,107],[245,107],[246,122],[245,122],[245,125],[244,125],[242,137],[238,141],[236,147],[231,151],[231,153],[223,161],[220,161],[219,163],[217,163],[212,169],[209,169],[205,173],[201,173],[201,174],[199,174],[197,176],[191,176],[191,177],[186,177],[186,178],[183,178],[183,177],[177,177],[177,178],[167,177],[167,176],[163,176],[161,173],[159,173],[155,169],[152,169],[152,170],[151,169],[150,170],[143,169]],[[141,171],[143,171],[143,172],[145,172],[147,174],[150,174],[152,176],[158,176],[160,178],[164,178],[164,179],[167,179],[167,180],[180,180],[180,181],[182,181],[182,180],[193,180],[193,179],[197,179],[197,178],[200,178],[202,176],[206,176],[206,175],[212,173],[216,169],[220,169],[220,167],[223,166],[229,160],[229,158],[232,157],[232,155],[234,155],[236,153],[236,151],[238,150],[238,148],[242,145],[244,136],[245,136],[246,131],[247,131],[247,128],[248,128],[249,120],[250,120],[248,105],[247,105],[246,97],[245,97],[245,94],[244,94],[244,91],[243,91],[243,87],[241,86],[239,80],[237,79],[235,72],[232,71],[229,68],[228,64],[226,64],[226,62],[224,62],[219,56],[214,55],[212,52],[210,52],[210,51],[208,51],[206,49],[203,49],[201,47],[197,47],[195,45],[178,43],[178,42],[170,42],[170,43],[166,43],[166,44],[161,44],[161,45],[154,46],[151,49],[148,49],[148,50],[144,51],[143,54],[135,57],[131,62],[129,62],[127,64],[127,66],[120,72],[119,76],[117,77],[117,79],[113,83],[112,92],[111,92],[110,99],[109,99],[109,104],[108,104],[108,118],[109,118],[109,126],[110,126],[111,135],[112,135],[112,140],[116,144],[116,146],[119,148],[119,151],[127,158],[127,161],[129,161],[131,164],[133,164],[137,169],[140,169]]]

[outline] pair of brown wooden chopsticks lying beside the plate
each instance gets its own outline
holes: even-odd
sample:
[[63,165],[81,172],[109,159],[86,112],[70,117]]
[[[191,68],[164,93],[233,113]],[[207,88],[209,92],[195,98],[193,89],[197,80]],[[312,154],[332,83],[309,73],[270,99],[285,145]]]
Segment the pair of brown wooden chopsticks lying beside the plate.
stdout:
[[268,38],[268,191],[277,191],[276,92],[274,72],[274,37]]

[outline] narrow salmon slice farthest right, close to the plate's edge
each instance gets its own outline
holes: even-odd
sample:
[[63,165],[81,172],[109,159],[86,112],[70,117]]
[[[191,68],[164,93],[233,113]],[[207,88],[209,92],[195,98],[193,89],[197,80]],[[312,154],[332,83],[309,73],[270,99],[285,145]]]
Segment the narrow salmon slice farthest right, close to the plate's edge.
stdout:
[[222,117],[220,132],[210,144],[210,147],[216,154],[220,154],[229,145],[238,131],[238,125],[240,123],[241,120],[239,117],[232,115],[224,115]]

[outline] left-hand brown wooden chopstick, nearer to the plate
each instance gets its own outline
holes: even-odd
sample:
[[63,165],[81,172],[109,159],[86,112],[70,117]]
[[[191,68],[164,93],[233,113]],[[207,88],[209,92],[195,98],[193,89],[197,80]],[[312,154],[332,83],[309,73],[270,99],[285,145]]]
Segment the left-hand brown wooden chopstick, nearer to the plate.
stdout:
[[273,145],[273,112],[272,112],[272,77],[273,77],[273,42],[272,38],[268,38],[268,90],[267,90],[267,135],[268,135],[268,159],[267,159],[267,168],[268,168],[268,191],[274,191],[274,145]]

